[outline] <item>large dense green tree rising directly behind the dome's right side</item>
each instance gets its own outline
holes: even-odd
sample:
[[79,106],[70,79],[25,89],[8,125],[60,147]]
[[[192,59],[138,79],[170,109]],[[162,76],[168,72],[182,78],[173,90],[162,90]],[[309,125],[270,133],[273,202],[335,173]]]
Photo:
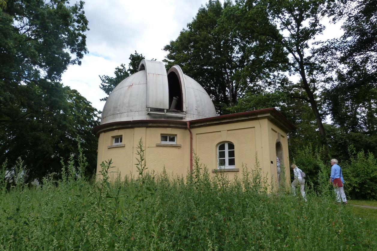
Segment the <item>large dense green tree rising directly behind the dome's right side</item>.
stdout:
[[215,103],[219,113],[233,106],[246,92],[261,91],[271,72],[279,69],[276,57],[285,58],[270,39],[235,30],[243,22],[230,1],[224,6],[209,1],[199,8],[175,41],[164,47],[168,67],[178,64],[197,80]]

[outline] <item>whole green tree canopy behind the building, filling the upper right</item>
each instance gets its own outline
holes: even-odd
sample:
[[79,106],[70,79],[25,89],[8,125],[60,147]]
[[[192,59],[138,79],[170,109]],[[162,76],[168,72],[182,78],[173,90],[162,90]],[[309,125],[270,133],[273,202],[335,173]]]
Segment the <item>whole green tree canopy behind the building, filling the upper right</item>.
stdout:
[[[355,143],[375,152],[376,6],[375,0],[209,1],[164,47],[166,63],[198,80],[220,114],[273,106],[296,124],[294,145],[328,142],[346,156],[347,144]],[[317,41],[325,18],[344,21],[341,38]],[[333,124],[324,125],[326,115]]]

